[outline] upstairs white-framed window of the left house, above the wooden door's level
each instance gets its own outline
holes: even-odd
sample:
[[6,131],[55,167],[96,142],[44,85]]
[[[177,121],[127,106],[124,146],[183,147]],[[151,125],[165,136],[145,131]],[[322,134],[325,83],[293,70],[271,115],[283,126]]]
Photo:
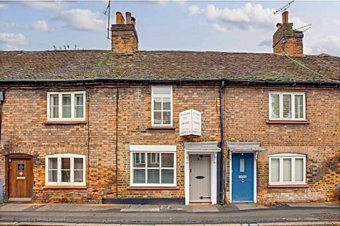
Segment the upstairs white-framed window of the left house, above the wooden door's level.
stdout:
[[84,121],[85,92],[47,93],[48,121]]

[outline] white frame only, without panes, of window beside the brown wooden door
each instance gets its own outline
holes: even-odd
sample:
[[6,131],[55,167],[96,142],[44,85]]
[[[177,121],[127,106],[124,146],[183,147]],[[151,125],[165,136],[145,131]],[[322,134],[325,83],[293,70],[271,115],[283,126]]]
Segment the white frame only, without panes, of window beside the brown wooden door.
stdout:
[[[48,159],[57,158],[57,182],[48,181]],[[70,158],[70,182],[62,182],[62,158]],[[74,182],[74,158],[83,159],[83,182]],[[55,154],[45,156],[45,185],[52,186],[86,186],[86,156],[78,154]]]

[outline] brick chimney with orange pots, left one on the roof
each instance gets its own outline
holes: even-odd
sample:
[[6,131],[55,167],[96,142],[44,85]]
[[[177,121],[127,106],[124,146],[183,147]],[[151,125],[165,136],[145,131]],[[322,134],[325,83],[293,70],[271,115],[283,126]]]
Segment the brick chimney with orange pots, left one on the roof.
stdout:
[[135,54],[138,51],[138,36],[135,28],[136,20],[130,12],[115,13],[115,24],[111,25],[111,50],[119,54]]

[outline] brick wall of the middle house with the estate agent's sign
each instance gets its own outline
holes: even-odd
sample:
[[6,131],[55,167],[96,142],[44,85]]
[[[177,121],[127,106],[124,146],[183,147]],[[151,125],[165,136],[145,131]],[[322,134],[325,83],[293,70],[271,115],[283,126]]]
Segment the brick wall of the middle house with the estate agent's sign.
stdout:
[[[173,131],[152,131],[151,86],[120,88],[118,113],[118,197],[184,198],[184,148],[186,141],[220,141],[219,88],[217,86],[173,87]],[[196,109],[202,112],[202,135],[179,136],[179,112]],[[138,190],[130,188],[129,145],[177,145],[177,188]]]

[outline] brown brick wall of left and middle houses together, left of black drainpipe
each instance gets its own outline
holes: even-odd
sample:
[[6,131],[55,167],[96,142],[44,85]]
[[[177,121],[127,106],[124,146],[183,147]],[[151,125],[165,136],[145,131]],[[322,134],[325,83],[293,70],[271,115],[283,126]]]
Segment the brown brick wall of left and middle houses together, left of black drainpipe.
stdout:
[[[220,141],[217,86],[174,86],[172,131],[151,131],[151,86],[118,89],[118,194],[116,193],[116,95],[115,86],[86,89],[86,124],[45,125],[47,91],[6,91],[1,130],[0,178],[5,178],[4,155],[33,155],[35,202],[95,202],[103,197],[184,197],[184,141]],[[75,90],[79,90],[75,89]],[[203,115],[203,136],[179,136],[179,112],[197,109]],[[177,188],[134,190],[130,186],[130,150],[135,145],[177,145]],[[48,189],[45,186],[45,155],[86,155],[86,189]],[[89,155],[88,155],[89,153]]]

